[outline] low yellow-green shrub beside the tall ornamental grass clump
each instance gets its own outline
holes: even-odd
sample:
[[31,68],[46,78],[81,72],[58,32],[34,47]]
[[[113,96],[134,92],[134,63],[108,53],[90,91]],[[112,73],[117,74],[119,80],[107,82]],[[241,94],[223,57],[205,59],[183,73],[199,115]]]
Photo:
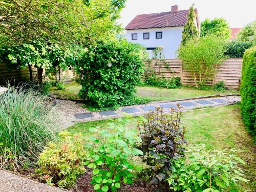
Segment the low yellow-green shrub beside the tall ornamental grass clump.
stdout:
[[86,172],[83,164],[87,153],[79,135],[72,138],[71,133],[62,131],[59,136],[60,142],[50,142],[40,154],[36,174],[50,185],[67,188]]

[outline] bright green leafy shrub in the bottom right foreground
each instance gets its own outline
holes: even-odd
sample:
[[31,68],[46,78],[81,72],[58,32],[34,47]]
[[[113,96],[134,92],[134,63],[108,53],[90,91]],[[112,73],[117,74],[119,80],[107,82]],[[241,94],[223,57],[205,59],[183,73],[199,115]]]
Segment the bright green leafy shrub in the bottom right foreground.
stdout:
[[234,155],[235,150],[204,151],[204,145],[195,145],[187,150],[185,158],[174,164],[168,183],[174,191],[223,191],[247,182],[238,163],[245,164]]

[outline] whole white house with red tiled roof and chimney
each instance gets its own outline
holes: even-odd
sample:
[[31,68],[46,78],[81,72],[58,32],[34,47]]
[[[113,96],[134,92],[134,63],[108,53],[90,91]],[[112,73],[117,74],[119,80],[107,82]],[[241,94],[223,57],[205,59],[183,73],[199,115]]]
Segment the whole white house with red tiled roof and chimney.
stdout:
[[[125,27],[126,38],[146,47],[151,58],[155,56],[155,50],[157,58],[176,58],[175,52],[180,46],[181,33],[187,23],[188,13],[189,10],[179,11],[175,5],[169,12],[137,15]],[[195,13],[196,27],[200,31],[197,9]],[[159,49],[162,51],[157,51]]]

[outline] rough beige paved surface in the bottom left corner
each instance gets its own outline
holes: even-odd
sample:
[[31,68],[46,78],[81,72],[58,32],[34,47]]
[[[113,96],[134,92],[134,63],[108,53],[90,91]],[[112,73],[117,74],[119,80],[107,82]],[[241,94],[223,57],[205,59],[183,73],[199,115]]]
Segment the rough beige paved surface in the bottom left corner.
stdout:
[[56,187],[39,183],[37,181],[20,177],[18,175],[0,170],[0,191],[3,192],[65,192]]

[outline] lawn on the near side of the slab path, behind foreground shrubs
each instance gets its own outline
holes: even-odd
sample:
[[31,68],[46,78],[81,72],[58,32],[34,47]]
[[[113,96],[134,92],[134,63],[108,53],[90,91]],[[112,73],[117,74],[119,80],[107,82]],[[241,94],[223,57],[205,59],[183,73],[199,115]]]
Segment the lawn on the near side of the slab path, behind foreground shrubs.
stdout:
[[[137,121],[142,117],[129,119],[129,128],[136,127]],[[207,149],[211,148],[237,148],[242,150],[238,154],[247,165],[244,167],[247,179],[255,180],[255,143],[245,130],[240,115],[240,105],[218,106],[201,110],[187,111],[182,116],[182,121],[187,126],[187,139],[190,144],[204,143]],[[82,133],[83,139],[90,136],[90,127],[105,127],[112,122],[116,125],[123,124],[124,119],[101,120],[78,123],[69,128],[73,133]],[[253,190],[255,182],[243,186],[244,190]],[[236,191],[236,190],[235,190]]]

